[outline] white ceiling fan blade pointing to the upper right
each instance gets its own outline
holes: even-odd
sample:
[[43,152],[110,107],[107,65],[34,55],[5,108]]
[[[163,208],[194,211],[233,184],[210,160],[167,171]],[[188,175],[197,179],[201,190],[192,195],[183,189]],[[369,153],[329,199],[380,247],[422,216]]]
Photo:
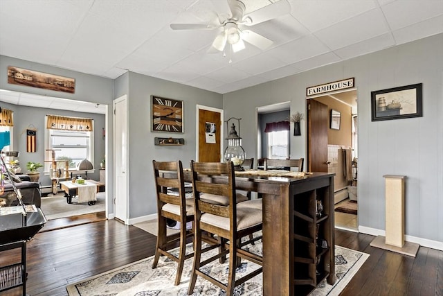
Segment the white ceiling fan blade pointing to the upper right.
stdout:
[[263,21],[269,21],[269,19],[287,15],[289,12],[291,12],[291,4],[287,0],[280,0],[248,13],[244,16],[242,24],[253,26]]

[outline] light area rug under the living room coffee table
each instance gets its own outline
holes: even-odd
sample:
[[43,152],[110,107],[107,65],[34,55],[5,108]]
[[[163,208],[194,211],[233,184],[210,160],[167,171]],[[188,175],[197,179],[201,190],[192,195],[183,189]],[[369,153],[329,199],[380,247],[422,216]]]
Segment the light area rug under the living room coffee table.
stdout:
[[40,208],[44,216],[46,216],[46,220],[53,220],[105,211],[105,204],[105,192],[97,193],[96,204],[91,206],[87,202],[78,203],[77,198],[73,198],[73,203],[68,204],[64,193],[58,193],[57,195],[42,198]]

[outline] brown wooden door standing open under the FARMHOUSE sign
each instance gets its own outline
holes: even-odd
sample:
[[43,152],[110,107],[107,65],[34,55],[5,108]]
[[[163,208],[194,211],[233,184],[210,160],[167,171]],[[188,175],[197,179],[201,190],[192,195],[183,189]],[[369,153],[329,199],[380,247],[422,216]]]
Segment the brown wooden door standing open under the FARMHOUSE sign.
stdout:
[[310,99],[307,114],[308,171],[327,173],[327,105]]

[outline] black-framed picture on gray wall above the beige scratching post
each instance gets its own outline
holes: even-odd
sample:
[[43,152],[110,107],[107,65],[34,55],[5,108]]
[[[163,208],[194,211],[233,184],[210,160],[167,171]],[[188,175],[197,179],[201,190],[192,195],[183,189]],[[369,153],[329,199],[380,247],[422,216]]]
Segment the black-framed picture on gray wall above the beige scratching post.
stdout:
[[422,83],[371,92],[372,121],[421,117]]

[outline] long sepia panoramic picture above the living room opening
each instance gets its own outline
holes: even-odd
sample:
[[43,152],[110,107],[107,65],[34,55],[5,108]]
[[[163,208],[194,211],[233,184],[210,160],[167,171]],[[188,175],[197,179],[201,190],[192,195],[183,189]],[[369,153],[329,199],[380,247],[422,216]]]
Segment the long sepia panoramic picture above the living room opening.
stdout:
[[75,79],[57,76],[33,70],[8,66],[8,83],[25,85],[41,89],[51,89],[56,92],[75,92]]

